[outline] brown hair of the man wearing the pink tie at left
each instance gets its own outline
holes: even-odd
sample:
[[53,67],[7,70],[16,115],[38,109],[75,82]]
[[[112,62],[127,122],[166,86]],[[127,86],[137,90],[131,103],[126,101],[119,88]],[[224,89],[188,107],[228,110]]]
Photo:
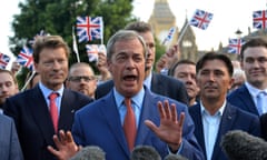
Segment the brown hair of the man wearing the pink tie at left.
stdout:
[[44,37],[38,37],[33,43],[32,56],[33,56],[33,61],[36,63],[39,62],[40,52],[44,48],[51,48],[51,49],[63,48],[66,51],[67,58],[69,58],[70,49],[60,36],[44,36]]

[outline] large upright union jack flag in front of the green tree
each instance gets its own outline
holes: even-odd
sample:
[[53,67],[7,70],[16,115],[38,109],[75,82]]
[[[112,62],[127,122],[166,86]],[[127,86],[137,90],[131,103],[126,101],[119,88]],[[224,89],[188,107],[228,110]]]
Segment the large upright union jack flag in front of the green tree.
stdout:
[[77,34],[79,42],[102,39],[102,17],[78,17]]

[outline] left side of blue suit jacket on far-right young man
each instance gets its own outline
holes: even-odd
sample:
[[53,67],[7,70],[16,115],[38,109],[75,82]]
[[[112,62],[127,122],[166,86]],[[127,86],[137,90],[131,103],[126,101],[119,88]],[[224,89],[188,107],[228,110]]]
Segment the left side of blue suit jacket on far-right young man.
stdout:
[[238,89],[230,92],[227,97],[227,100],[235,107],[238,107],[256,116],[259,116],[258,110],[254,103],[253,97],[250,96],[245,84],[240,86]]

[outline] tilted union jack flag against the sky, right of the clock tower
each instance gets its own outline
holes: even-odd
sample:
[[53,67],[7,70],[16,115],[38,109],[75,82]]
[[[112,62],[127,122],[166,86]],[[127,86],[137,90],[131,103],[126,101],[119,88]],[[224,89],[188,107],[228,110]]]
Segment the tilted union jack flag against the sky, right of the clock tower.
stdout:
[[214,17],[212,13],[197,9],[189,23],[191,26],[206,30],[212,17]]

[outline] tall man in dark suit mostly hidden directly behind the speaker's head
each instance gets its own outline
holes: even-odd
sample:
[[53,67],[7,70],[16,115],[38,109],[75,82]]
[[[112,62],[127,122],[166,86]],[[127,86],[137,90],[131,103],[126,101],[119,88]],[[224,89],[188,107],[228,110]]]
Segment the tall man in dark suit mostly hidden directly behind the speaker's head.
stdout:
[[[156,58],[156,42],[152,33],[152,28],[149,23],[142,21],[135,21],[126,26],[126,30],[137,31],[141,36],[147,44],[146,56],[146,74],[145,86],[154,93],[166,96],[168,98],[178,100],[188,104],[188,94],[185,84],[177,79],[168,76],[159,74],[152,71],[152,67]],[[177,48],[174,47],[169,51],[176,52]],[[175,53],[174,53],[175,54]],[[99,99],[106,96],[113,88],[113,81],[109,80],[97,87],[96,98]]]

